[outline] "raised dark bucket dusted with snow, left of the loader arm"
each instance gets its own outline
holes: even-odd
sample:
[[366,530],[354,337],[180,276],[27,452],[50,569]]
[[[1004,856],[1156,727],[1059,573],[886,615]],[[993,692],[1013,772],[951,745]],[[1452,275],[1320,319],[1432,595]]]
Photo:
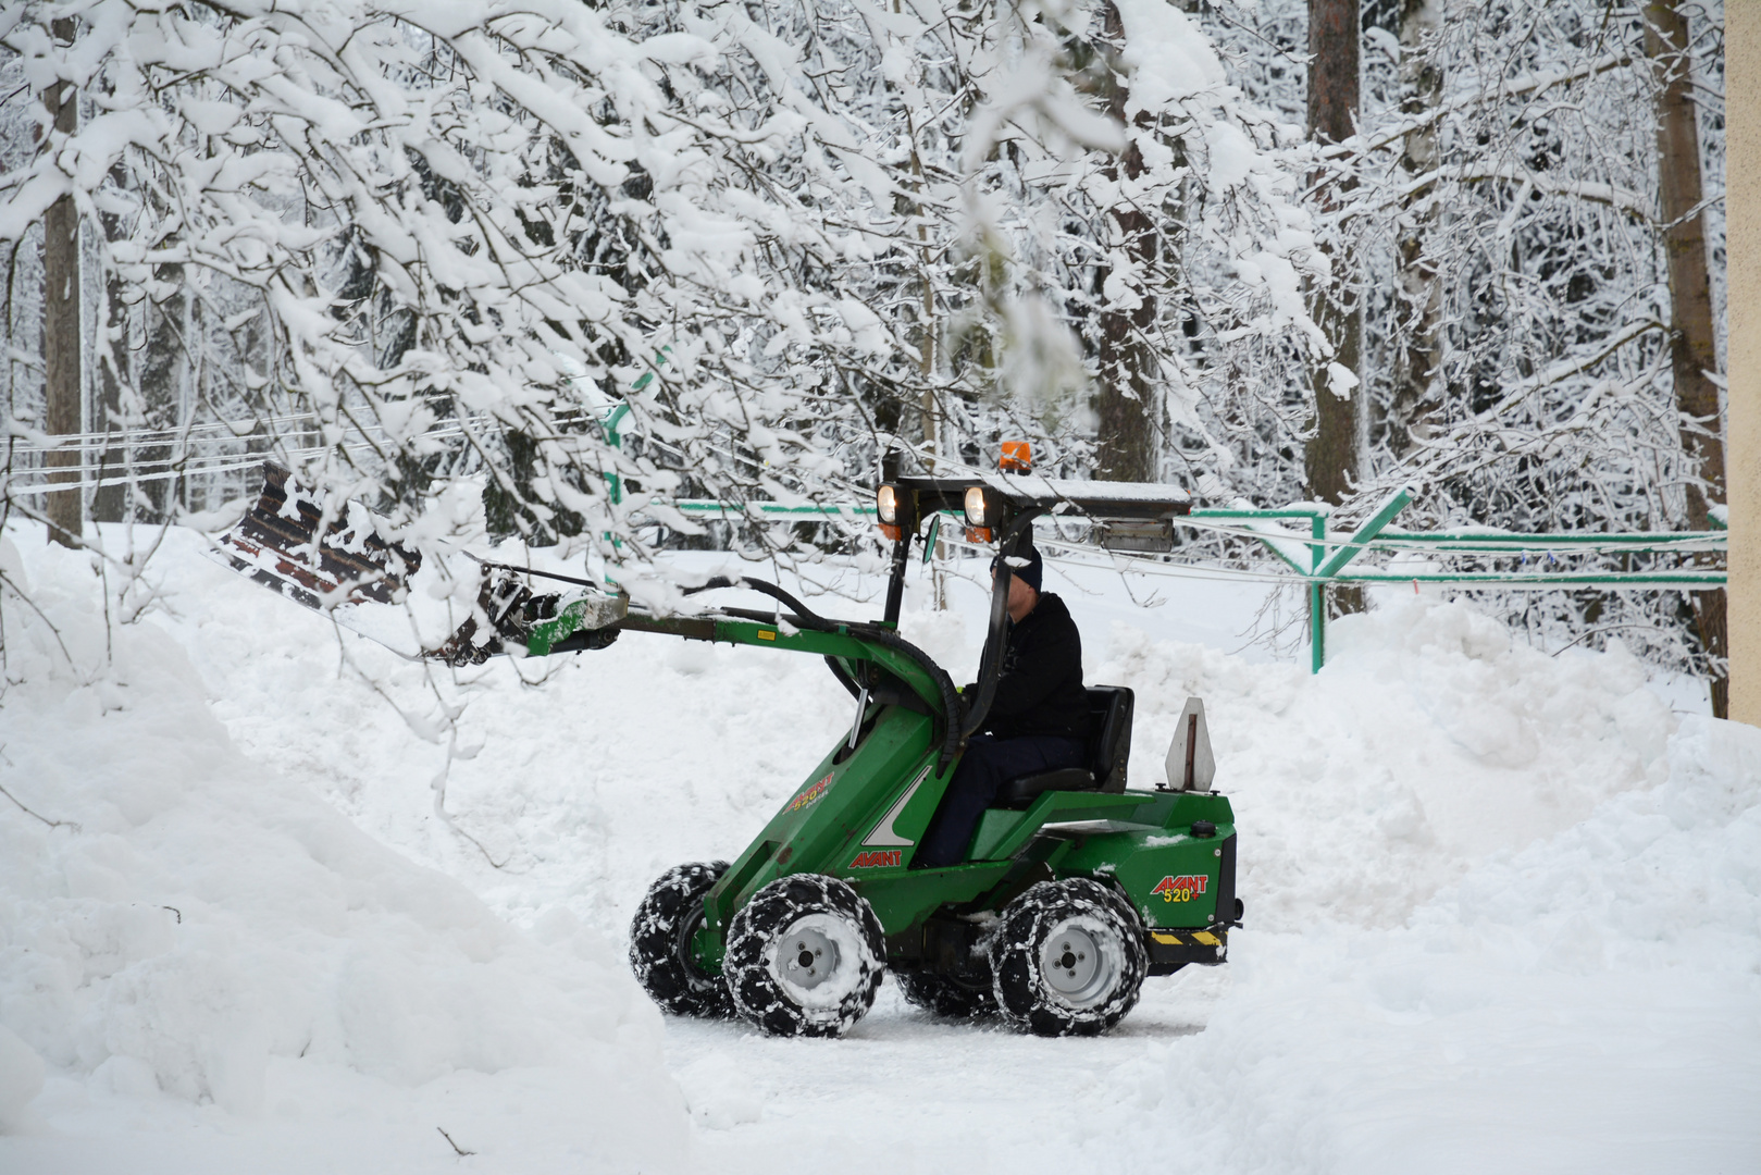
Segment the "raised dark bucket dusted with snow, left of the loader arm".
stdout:
[[328,521],[326,506],[322,493],[264,462],[257,504],[217,543],[234,571],[317,611],[400,602],[421,553],[386,543],[380,520],[359,502],[333,506]]

